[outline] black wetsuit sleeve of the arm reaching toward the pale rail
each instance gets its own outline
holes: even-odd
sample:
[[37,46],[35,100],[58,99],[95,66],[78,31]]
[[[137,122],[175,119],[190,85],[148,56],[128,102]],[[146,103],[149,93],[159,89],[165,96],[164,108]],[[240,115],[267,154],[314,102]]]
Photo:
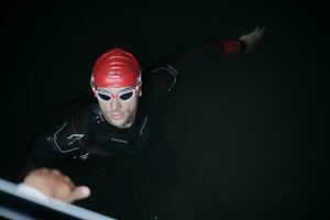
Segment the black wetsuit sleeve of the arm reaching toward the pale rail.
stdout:
[[[62,120],[58,120],[58,118],[62,118]],[[32,169],[50,167],[55,161],[73,156],[79,150],[77,140],[80,136],[75,135],[70,118],[70,110],[65,109],[56,111],[54,116],[47,119],[47,122],[40,129],[26,153],[18,163],[13,182],[19,183]]]

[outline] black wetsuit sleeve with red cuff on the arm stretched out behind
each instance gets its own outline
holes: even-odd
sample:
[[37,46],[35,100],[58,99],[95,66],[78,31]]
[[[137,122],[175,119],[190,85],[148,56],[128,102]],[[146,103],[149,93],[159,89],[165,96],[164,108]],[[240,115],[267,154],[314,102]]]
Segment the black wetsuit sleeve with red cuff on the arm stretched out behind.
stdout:
[[178,77],[196,65],[229,54],[241,53],[245,48],[246,43],[241,40],[224,40],[201,45],[157,63],[147,70],[143,80],[146,80],[153,89],[158,87],[158,90],[163,90],[166,96],[174,88]]

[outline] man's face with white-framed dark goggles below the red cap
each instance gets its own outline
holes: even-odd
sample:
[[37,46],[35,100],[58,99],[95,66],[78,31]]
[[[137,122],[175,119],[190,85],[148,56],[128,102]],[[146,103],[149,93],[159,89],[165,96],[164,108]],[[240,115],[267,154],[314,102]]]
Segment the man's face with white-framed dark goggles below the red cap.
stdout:
[[129,128],[133,124],[141,96],[140,87],[97,88],[95,92],[109,123],[118,128]]

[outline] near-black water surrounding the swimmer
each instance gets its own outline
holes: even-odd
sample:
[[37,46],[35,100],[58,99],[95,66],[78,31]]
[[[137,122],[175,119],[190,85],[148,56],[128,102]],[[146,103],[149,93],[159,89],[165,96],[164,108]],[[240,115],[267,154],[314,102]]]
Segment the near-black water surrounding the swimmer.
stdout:
[[[326,9],[317,1],[3,4],[1,177],[12,174],[52,109],[90,92],[90,69],[107,48],[123,46],[144,67],[263,24],[265,36],[252,53],[208,62],[180,78],[162,109],[158,141],[153,142],[163,151],[167,147],[169,163],[161,153],[147,165],[163,167],[155,173],[165,184],[135,186],[143,195],[152,191],[155,202],[146,200],[161,204],[155,209],[160,211],[151,213],[160,219],[321,218],[329,212],[329,40]],[[92,202],[81,206],[116,216],[97,193],[111,185],[100,168],[107,163],[68,162],[64,170],[92,188]],[[175,174],[168,167],[175,167]],[[134,172],[135,177],[143,170],[150,169]],[[130,196],[116,193],[130,201]]]

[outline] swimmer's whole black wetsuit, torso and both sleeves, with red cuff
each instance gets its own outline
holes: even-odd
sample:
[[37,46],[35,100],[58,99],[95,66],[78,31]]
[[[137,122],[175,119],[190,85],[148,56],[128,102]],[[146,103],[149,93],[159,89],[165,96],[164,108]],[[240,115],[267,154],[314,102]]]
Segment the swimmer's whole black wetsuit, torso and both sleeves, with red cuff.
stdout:
[[[56,116],[62,119],[51,120],[38,133],[28,158],[19,168],[18,179],[35,167],[47,166],[52,161],[64,157],[88,160],[90,155],[136,154],[150,138],[158,106],[182,73],[200,62],[242,52],[246,47],[244,42],[238,40],[223,42],[202,45],[143,72],[143,96],[139,99],[136,118],[131,128],[120,129],[108,123],[95,97],[80,100],[61,117]],[[231,48],[233,45],[237,45],[235,48]]]

